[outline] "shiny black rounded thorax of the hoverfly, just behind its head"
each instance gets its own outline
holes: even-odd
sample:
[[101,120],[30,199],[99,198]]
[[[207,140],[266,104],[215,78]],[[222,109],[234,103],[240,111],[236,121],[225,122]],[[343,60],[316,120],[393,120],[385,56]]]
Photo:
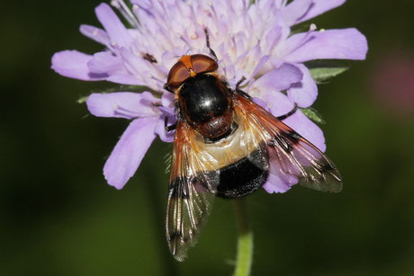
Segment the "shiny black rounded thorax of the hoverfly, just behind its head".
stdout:
[[230,107],[225,85],[211,75],[200,74],[187,79],[180,89],[180,108],[193,123],[203,123],[223,115]]

